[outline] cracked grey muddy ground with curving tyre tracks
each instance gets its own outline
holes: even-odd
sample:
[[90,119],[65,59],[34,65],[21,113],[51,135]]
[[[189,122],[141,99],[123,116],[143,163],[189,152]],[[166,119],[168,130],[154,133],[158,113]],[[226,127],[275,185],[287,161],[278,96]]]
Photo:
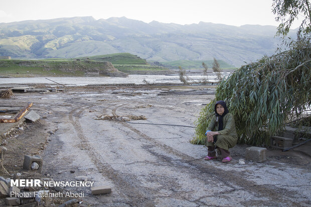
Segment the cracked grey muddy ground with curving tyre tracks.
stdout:
[[[239,164],[248,145],[232,148],[229,163],[204,160],[207,148],[189,140],[213,90],[145,85],[15,93],[0,105],[31,101],[41,119],[2,140],[10,175],[3,169],[0,175],[111,186],[103,195],[90,187],[50,189],[84,192],[81,206],[311,206],[310,145],[268,148],[262,163]],[[42,173],[22,169],[24,154],[43,157]],[[66,199],[55,198],[55,205]]]

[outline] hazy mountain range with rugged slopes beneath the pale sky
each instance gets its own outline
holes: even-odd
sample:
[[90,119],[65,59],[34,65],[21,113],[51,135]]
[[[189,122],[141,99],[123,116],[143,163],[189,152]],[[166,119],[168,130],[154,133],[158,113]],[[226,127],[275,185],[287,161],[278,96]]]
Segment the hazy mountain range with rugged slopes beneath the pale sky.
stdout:
[[125,17],[22,21],[0,24],[0,56],[40,59],[131,53],[148,62],[216,58],[239,67],[272,55],[280,43],[275,32],[274,26],[144,23]]

